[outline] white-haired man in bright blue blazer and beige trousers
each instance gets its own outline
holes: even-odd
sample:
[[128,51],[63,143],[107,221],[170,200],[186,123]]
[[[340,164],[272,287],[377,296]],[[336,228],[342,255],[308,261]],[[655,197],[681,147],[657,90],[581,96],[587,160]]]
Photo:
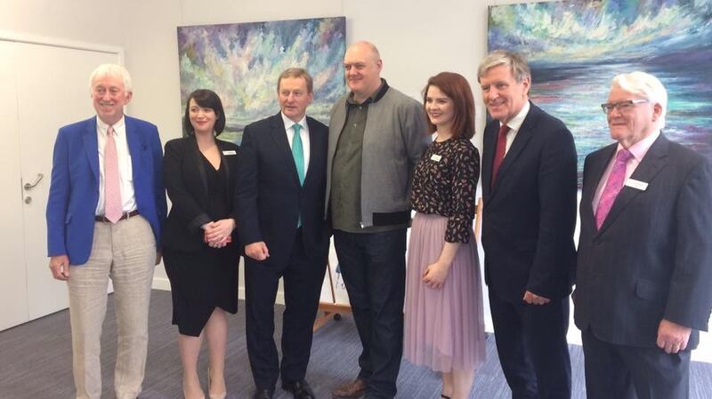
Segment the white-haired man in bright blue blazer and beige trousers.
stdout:
[[142,389],[150,286],[166,219],[161,143],[155,125],[124,115],[132,97],[125,68],[90,78],[96,116],[60,129],[47,201],[54,278],[67,281],[77,399],[101,396],[100,339],[109,278],[117,315],[117,399]]

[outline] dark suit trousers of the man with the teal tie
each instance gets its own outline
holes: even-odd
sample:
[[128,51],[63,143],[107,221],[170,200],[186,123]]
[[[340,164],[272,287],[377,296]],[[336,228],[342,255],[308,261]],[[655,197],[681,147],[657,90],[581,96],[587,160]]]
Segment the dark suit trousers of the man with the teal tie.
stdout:
[[[279,375],[282,383],[304,379],[326,260],[307,256],[301,228],[286,265],[266,266],[245,257],[247,355],[259,389],[274,389]],[[281,364],[274,342],[274,302],[280,277],[285,299]]]

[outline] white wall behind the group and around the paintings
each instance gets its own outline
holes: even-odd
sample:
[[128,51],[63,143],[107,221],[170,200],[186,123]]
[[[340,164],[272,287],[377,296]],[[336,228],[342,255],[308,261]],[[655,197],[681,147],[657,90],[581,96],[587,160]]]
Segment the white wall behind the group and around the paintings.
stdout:
[[[427,78],[443,70],[467,77],[477,102],[474,140],[481,148],[485,113],[476,72],[487,50],[487,7],[512,3],[526,1],[4,0],[0,30],[122,47],[125,66],[134,77],[128,113],[157,124],[166,142],[181,135],[177,26],[345,16],[347,40],[376,44],[384,60],[383,76],[402,92],[418,97]],[[162,267],[156,271],[154,286],[167,287]],[[489,314],[487,303],[485,309]],[[490,320],[487,327],[491,331]],[[573,323],[569,338],[580,343]],[[704,339],[704,346],[712,347],[707,334]],[[705,351],[708,355],[702,358],[712,362],[712,348]],[[696,352],[700,358],[704,351]]]

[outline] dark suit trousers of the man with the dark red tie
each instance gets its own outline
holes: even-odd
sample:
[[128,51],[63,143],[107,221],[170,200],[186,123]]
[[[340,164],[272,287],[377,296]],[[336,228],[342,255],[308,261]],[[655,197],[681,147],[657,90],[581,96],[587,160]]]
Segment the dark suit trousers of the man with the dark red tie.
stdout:
[[570,399],[569,298],[511,303],[490,291],[499,363],[513,399]]

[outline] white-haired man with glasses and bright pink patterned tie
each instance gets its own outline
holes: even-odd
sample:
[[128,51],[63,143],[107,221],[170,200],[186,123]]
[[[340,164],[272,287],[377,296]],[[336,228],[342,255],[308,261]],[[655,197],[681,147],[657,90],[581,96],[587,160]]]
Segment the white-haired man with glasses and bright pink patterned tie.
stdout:
[[712,308],[712,165],[661,132],[667,92],[613,78],[616,143],[586,157],[574,292],[589,399],[684,399]]

